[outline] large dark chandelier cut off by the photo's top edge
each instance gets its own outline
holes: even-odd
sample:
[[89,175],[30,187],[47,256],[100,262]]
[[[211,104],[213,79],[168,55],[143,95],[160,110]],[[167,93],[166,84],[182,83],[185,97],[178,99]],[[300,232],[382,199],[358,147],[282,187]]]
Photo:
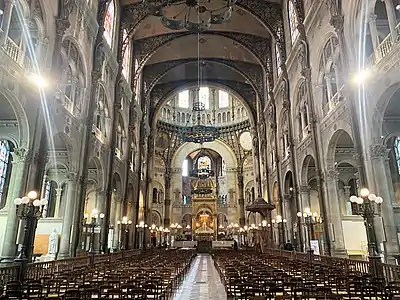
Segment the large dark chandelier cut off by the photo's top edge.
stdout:
[[143,0],[151,15],[172,30],[205,31],[229,22],[237,0]]

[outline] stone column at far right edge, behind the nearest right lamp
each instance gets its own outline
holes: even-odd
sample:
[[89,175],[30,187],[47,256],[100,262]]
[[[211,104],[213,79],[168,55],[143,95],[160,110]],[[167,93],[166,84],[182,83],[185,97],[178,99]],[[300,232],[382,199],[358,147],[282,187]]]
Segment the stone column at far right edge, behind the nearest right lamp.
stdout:
[[[397,240],[397,230],[394,222],[393,204],[390,197],[390,187],[392,182],[387,177],[387,168],[389,167],[388,153],[389,149],[385,145],[376,144],[370,146],[370,156],[372,169],[375,178],[375,194],[383,198],[382,219],[386,234],[386,255],[389,262],[393,262],[393,255],[399,253],[399,244]],[[371,193],[374,192],[371,190]],[[378,241],[378,246],[381,241]]]

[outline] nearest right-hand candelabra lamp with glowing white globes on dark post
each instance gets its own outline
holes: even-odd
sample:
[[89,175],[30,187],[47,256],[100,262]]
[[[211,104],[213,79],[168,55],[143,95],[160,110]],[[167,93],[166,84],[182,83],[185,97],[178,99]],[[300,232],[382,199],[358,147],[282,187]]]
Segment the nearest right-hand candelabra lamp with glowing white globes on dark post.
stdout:
[[367,188],[362,188],[360,190],[360,196],[351,196],[350,202],[355,203],[358,206],[358,211],[364,219],[371,273],[372,275],[379,277],[382,274],[382,270],[378,264],[380,262],[380,256],[374,227],[374,217],[380,215],[383,198],[370,193]]

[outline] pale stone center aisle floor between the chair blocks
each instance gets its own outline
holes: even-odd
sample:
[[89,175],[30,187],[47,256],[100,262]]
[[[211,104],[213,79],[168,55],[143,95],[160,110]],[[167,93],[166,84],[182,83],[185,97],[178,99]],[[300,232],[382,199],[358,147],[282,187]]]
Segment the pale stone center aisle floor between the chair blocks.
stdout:
[[174,300],[226,300],[225,287],[209,254],[195,258]]

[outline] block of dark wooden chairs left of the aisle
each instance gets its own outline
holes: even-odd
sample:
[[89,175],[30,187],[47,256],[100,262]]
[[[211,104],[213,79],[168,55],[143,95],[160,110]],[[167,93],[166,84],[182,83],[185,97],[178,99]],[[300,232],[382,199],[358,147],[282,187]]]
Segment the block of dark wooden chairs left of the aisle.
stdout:
[[0,299],[170,299],[194,257],[190,250],[163,250],[8,282]]

